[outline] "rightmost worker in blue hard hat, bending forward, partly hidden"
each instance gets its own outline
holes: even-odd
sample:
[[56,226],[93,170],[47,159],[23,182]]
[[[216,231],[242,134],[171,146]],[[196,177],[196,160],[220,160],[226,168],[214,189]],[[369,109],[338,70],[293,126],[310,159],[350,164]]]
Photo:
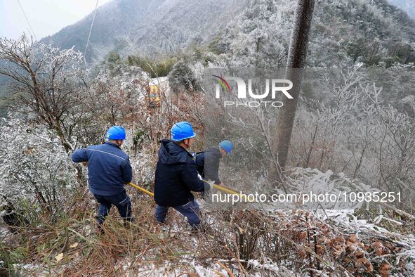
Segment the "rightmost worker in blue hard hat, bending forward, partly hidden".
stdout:
[[232,152],[233,144],[230,141],[221,141],[218,147],[211,147],[196,153],[196,168],[200,176],[205,180],[214,181],[220,185],[219,179],[220,160]]

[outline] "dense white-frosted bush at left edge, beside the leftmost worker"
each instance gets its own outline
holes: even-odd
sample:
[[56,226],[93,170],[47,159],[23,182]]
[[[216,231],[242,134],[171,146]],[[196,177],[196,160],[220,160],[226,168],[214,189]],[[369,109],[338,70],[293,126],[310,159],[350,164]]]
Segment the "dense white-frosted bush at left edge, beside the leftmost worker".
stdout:
[[54,132],[27,124],[13,113],[0,125],[0,193],[13,202],[33,200],[43,212],[55,214],[76,188],[76,172]]

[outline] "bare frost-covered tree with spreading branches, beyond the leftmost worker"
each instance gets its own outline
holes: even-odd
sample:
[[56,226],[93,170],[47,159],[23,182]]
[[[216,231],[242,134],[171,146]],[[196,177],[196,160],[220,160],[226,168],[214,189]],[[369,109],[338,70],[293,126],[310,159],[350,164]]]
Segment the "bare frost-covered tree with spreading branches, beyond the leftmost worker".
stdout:
[[[82,53],[34,44],[23,34],[17,40],[0,39],[0,60],[5,63],[0,75],[10,79],[10,108],[53,130],[70,153],[83,131],[79,125],[88,121],[83,107],[88,99]],[[81,167],[76,168],[81,181]]]

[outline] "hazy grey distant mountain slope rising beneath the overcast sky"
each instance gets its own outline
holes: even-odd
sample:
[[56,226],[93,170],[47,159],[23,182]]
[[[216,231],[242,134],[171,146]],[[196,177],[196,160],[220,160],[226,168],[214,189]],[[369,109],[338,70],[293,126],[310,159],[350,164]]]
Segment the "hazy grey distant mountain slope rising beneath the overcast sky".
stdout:
[[[114,0],[98,8],[87,60],[100,60],[110,50],[155,56],[211,38],[246,1]],[[56,46],[84,51],[93,13],[47,37]]]

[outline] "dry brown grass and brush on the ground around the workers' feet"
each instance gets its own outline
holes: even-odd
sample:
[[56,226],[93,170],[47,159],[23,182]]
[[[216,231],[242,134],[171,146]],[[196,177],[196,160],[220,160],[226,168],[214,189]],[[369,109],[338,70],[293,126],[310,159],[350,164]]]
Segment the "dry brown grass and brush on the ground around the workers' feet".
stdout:
[[[105,235],[99,235],[92,198],[84,194],[76,202],[68,201],[67,217],[62,214],[53,223],[43,221],[37,228],[8,234],[3,251],[17,255],[19,249],[20,263],[37,265],[21,269],[20,276],[199,276],[195,264],[217,276],[353,276],[389,272],[383,260],[369,261],[388,254],[392,264],[400,252],[393,243],[357,238],[302,211],[204,210],[206,231],[191,233],[174,210],[165,226],[156,224],[153,200],[129,193],[136,219],[129,226],[123,226],[113,209]],[[279,272],[268,264],[278,266]],[[403,272],[403,266],[402,261],[394,270]]]

